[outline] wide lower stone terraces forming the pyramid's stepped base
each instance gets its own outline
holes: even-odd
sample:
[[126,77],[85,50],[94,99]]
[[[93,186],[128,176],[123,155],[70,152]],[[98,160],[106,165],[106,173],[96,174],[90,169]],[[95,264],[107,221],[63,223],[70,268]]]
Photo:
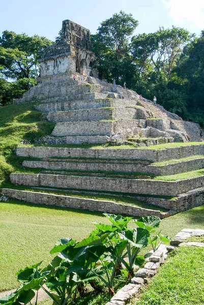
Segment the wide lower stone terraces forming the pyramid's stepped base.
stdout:
[[[16,153],[19,157],[37,159],[23,161],[24,168],[39,168],[39,173],[35,174],[12,173],[10,175],[14,185],[37,188],[38,194],[32,191],[1,190],[3,195],[20,200],[49,204],[49,198],[54,198],[50,199],[50,204],[65,204],[68,207],[99,211],[104,209],[103,211],[109,212],[116,212],[118,208],[118,213],[123,212],[127,215],[132,213],[133,216],[160,215],[159,217],[166,217],[203,204],[204,175],[177,181],[153,179],[154,175],[202,169],[204,162],[204,145],[202,144],[161,150],[18,147]],[[180,161],[182,158],[188,158],[188,160]],[[172,159],[177,159],[178,162],[171,163]],[[164,165],[154,165],[154,162],[160,161],[168,162]],[[46,171],[42,171],[43,168]],[[40,193],[40,189],[44,192]],[[90,198],[87,201],[69,196],[68,200],[64,198],[63,189],[78,194],[85,191],[90,194]],[[52,193],[56,190],[58,193],[62,192],[62,195],[45,194],[46,190]],[[116,202],[113,204],[108,200],[105,203],[101,200],[95,202],[91,197],[92,194],[97,193],[112,194],[113,197],[120,196],[119,194],[125,198],[130,196],[151,204],[152,209],[138,208],[134,204],[117,205]],[[110,206],[109,210],[108,206]],[[154,210],[154,206],[165,208],[170,212],[162,214],[161,211]]]

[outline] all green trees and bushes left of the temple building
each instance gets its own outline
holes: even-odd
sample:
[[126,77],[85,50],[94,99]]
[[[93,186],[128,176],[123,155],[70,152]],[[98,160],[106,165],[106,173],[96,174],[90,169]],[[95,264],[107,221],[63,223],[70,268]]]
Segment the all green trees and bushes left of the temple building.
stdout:
[[[0,103],[9,104],[36,84],[39,59],[52,42],[35,35],[4,31],[0,37]],[[10,80],[10,81],[8,81]]]

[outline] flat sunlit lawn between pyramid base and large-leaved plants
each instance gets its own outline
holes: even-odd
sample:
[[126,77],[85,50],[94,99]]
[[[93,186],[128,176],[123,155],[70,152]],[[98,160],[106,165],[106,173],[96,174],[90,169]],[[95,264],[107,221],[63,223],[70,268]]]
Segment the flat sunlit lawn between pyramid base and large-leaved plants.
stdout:
[[[0,203],[0,291],[18,286],[15,273],[52,256],[57,239],[81,240],[95,228],[93,222],[109,223],[101,213],[25,204]],[[162,220],[162,233],[173,237],[183,228],[202,228],[204,206]],[[133,224],[132,224],[133,225]],[[131,226],[131,224],[130,224]]]

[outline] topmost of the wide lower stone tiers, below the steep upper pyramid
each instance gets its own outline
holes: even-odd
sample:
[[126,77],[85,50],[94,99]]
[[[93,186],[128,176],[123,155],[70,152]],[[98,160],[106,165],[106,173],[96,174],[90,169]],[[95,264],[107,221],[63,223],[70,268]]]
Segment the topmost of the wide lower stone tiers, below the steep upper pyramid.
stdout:
[[114,146],[104,149],[24,146],[16,148],[16,155],[31,158],[93,158],[97,160],[149,160],[152,162],[161,162],[195,155],[204,155],[204,144],[165,149],[115,149]]

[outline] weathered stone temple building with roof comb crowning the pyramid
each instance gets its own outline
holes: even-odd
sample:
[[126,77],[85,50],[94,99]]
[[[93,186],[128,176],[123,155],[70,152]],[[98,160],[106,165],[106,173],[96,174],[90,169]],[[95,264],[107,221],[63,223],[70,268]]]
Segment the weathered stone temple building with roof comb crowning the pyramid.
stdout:
[[79,73],[97,77],[97,71],[93,70],[95,60],[89,29],[70,20],[64,20],[61,39],[47,47],[43,53],[40,60],[40,76]]

